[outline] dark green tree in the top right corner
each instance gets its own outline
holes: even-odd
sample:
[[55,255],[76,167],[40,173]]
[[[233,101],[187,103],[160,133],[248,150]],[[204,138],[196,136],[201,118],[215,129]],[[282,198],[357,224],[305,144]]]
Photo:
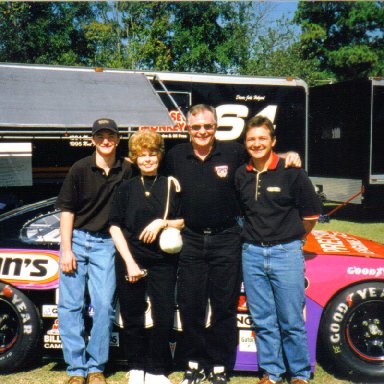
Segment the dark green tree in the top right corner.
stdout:
[[303,58],[338,80],[382,75],[383,20],[382,2],[299,2]]

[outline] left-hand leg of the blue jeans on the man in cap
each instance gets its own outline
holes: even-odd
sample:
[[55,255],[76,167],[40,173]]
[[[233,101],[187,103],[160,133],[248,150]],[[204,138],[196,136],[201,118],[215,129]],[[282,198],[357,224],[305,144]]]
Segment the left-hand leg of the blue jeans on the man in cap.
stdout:
[[77,261],[74,273],[60,271],[58,319],[64,360],[70,376],[87,376],[84,340],[84,295],[88,270],[85,233],[73,231],[72,251]]

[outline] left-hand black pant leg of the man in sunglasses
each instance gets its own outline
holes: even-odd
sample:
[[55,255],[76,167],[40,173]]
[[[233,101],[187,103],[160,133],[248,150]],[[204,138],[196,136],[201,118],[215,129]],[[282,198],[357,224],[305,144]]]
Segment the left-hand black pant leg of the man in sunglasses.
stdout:
[[208,263],[205,259],[204,237],[186,228],[177,275],[177,303],[183,328],[178,349],[182,363],[207,359],[205,317],[207,308]]

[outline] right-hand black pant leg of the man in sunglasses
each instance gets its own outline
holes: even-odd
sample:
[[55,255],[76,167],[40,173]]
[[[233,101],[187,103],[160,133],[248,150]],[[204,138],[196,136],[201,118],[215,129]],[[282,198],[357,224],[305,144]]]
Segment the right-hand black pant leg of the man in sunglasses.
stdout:
[[237,304],[240,293],[241,242],[235,226],[209,236],[207,292],[211,305],[211,323],[206,329],[209,368],[224,365],[233,369],[236,360]]

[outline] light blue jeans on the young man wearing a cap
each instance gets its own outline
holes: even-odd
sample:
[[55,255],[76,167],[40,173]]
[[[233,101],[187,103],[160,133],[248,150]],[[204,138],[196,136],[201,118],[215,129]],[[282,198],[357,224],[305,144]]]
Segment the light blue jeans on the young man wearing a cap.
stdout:
[[[72,251],[75,273],[60,271],[59,330],[69,376],[103,372],[108,361],[109,340],[116,287],[115,247],[107,234],[74,230]],[[88,289],[94,310],[89,341],[84,337],[84,295]]]

